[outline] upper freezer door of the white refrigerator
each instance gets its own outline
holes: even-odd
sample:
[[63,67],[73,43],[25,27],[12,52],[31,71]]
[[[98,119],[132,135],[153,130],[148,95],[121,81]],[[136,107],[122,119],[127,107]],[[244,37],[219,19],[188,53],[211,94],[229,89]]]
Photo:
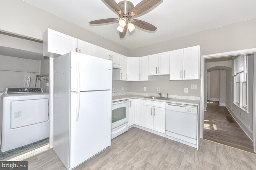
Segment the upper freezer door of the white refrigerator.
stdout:
[[71,52],[71,92],[112,90],[112,61]]

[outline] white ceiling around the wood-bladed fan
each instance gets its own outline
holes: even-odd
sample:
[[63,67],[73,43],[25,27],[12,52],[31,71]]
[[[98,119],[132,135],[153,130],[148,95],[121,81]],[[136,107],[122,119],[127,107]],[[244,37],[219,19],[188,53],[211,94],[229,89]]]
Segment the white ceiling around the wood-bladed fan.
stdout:
[[[192,33],[256,18],[256,0],[162,0],[153,9],[135,17],[155,25],[155,32],[138,27],[119,38],[118,23],[99,26],[89,21],[118,18],[102,0],[24,0],[38,8],[93,31],[128,49],[159,43]],[[120,2],[121,0],[116,0]],[[141,0],[130,0],[134,6]]]

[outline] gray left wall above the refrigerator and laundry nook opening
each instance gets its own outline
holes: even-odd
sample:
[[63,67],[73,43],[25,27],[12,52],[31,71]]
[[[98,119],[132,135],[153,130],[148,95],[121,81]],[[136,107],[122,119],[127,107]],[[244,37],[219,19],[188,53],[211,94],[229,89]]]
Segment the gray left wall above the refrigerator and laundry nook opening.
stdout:
[[0,30],[42,40],[47,28],[130,56],[130,50],[22,0],[1,0]]

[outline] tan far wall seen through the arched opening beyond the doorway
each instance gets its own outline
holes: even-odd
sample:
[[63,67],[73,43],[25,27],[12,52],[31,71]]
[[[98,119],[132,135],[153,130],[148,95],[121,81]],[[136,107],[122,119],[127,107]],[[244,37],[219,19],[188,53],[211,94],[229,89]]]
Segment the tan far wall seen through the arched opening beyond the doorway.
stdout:
[[220,100],[220,70],[210,72],[210,95],[209,100]]

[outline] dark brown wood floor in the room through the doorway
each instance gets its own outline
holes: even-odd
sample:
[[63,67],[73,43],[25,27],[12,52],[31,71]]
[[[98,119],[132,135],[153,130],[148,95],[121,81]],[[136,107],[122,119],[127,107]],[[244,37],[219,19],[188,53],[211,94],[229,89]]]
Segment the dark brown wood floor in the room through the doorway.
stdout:
[[226,107],[208,101],[204,111],[204,139],[253,152],[253,142],[237,123],[228,122],[226,117],[232,117]]

